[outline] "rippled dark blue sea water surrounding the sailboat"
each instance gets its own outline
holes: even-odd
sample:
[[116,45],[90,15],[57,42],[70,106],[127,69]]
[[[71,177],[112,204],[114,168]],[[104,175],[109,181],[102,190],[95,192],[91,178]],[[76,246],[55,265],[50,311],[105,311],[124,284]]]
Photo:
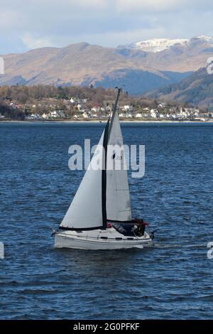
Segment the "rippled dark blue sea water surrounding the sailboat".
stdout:
[[145,176],[129,183],[153,249],[54,249],[83,173],[68,148],[103,127],[0,124],[0,318],[212,319],[212,124],[122,124],[126,144],[146,145]]

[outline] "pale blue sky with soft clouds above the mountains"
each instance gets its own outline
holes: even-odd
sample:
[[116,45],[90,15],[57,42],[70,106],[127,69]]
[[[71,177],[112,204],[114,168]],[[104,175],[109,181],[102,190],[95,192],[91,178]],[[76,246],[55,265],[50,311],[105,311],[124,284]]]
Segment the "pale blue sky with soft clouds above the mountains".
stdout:
[[0,0],[0,54],[213,36],[212,0]]

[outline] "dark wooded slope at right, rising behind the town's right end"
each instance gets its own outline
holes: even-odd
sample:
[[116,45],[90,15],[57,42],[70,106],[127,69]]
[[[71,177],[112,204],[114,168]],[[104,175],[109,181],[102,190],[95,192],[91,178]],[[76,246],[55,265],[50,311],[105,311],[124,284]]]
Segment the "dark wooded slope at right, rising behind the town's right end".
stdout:
[[147,96],[164,101],[188,102],[199,107],[213,107],[213,74],[210,75],[207,68],[201,68],[178,84],[150,92]]

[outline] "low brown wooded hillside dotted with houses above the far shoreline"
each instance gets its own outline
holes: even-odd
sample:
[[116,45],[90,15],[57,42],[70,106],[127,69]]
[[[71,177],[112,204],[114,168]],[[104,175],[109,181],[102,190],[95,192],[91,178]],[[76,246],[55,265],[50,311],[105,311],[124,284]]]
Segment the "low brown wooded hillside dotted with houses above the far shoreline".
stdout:
[[[16,85],[0,87],[0,121],[107,120],[111,115],[116,90],[103,87],[55,87]],[[163,103],[148,97],[133,97],[122,91],[118,104],[123,120],[202,120],[212,113],[185,103]]]

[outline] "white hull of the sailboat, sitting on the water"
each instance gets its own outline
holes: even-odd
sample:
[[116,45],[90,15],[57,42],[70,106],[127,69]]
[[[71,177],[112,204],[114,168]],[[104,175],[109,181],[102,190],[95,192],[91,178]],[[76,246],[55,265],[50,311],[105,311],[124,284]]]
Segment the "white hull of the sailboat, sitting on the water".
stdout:
[[153,247],[152,239],[146,237],[129,239],[100,239],[99,237],[84,237],[79,235],[68,235],[66,233],[55,234],[55,248],[74,248],[74,249],[131,249]]

